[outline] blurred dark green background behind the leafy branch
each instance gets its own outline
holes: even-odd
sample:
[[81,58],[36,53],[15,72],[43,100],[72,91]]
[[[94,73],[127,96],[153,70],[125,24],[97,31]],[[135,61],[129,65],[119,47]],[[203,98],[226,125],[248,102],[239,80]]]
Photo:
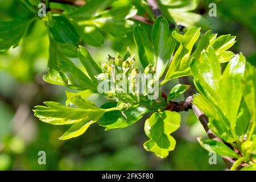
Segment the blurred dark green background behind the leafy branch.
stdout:
[[[133,1],[133,0],[130,0]],[[129,0],[119,1],[130,3]],[[1,0],[0,0],[1,2]],[[209,3],[217,4],[217,17],[209,17]],[[254,0],[201,1],[197,13],[211,22],[213,32],[237,36],[234,52],[243,52],[255,65],[256,2]],[[26,18],[14,0],[0,3],[0,20]],[[125,129],[104,131],[94,125],[81,137],[57,139],[65,126],[39,122],[33,115],[35,105],[43,101],[65,102],[64,86],[42,80],[48,59],[48,36],[43,21],[30,27],[21,46],[0,55],[0,170],[223,170],[221,158],[217,165],[208,163],[208,152],[196,137],[205,133],[190,111],[183,114],[181,128],[175,132],[176,148],[166,159],[159,159],[143,149],[147,140],[144,119]],[[86,46],[95,60],[103,61],[108,54],[124,53],[127,46],[136,52],[133,35],[113,38],[106,35],[104,46]],[[176,84],[171,82],[168,92]],[[90,100],[101,105],[97,95]],[[38,152],[46,152],[46,165],[38,164]]]

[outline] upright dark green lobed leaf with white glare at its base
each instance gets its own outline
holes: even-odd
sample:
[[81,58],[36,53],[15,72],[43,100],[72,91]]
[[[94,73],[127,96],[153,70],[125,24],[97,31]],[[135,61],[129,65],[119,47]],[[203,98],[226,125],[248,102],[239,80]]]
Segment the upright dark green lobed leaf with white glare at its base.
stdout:
[[[137,26],[134,29],[134,40],[137,44],[139,59],[142,66],[147,67],[148,64],[155,66],[156,79],[159,79],[174,52],[176,41],[171,36],[168,22],[162,16],[155,20],[152,27],[151,39],[148,38],[146,30],[143,27]],[[168,47],[168,49],[166,49]]]

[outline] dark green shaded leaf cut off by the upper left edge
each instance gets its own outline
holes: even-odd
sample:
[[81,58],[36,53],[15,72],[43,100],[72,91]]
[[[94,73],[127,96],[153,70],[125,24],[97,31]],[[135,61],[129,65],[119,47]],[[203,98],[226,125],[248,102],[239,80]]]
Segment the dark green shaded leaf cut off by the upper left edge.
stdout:
[[28,28],[24,20],[9,20],[0,22],[0,53],[6,52],[10,47],[19,46]]

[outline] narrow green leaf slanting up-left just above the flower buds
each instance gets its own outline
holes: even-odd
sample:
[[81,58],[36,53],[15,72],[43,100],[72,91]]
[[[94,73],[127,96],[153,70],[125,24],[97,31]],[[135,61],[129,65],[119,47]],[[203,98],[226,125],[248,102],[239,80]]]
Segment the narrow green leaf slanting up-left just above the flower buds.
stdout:
[[93,60],[92,56],[90,56],[90,53],[87,51],[87,49],[79,46],[78,56],[82,65],[84,65],[86,72],[90,76],[90,79],[97,81],[94,76],[101,73],[101,68],[98,66],[96,61]]

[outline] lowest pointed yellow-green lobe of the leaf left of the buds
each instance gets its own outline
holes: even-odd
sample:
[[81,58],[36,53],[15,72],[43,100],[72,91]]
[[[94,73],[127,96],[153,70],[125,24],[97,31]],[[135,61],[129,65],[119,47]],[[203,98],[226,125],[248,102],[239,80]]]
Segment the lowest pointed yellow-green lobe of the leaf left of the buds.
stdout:
[[[99,117],[100,116],[98,116],[96,119],[98,119]],[[87,119],[82,119],[80,122],[76,123],[70,129],[68,129],[59,139],[67,140],[79,137],[80,135],[84,134],[88,127],[95,122],[97,122],[97,120],[92,120],[88,122]]]

